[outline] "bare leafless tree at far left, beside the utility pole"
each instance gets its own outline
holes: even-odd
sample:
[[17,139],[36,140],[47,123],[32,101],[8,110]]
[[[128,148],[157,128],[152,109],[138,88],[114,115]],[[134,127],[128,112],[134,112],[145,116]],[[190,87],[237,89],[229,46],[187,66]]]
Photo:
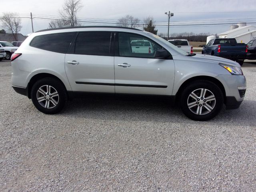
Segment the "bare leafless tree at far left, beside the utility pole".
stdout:
[[21,19],[15,16],[16,13],[3,13],[4,16],[1,18],[2,27],[6,29],[7,32],[12,33],[14,39],[17,41],[17,34],[20,32]]

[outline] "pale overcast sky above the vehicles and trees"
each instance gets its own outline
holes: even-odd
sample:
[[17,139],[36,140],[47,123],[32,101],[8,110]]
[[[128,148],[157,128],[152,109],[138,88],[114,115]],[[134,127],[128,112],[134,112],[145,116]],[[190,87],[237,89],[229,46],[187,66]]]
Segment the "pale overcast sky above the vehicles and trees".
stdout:
[[[1,0],[2,2],[4,0]],[[83,7],[78,18],[86,21],[116,22],[118,18],[130,14],[144,20],[153,16],[156,24],[168,24],[168,16],[164,12],[174,13],[170,18],[170,33],[194,32],[218,34],[229,30],[230,24],[224,26],[171,26],[174,24],[208,24],[254,22],[256,25],[256,0],[81,0]],[[5,1],[4,1],[5,2]],[[3,12],[17,12],[28,16],[32,12],[36,17],[56,17],[64,0],[9,0]],[[6,5],[6,2],[4,3]],[[0,13],[2,16],[2,13]],[[97,18],[89,19],[89,18]],[[165,22],[166,21],[166,22]],[[33,19],[34,31],[48,28],[49,20]],[[96,25],[82,23],[82,25]],[[106,24],[102,24],[106,25]],[[140,27],[142,29],[142,26]],[[167,33],[167,26],[158,26],[158,33]],[[32,32],[31,20],[22,19],[21,33]]]

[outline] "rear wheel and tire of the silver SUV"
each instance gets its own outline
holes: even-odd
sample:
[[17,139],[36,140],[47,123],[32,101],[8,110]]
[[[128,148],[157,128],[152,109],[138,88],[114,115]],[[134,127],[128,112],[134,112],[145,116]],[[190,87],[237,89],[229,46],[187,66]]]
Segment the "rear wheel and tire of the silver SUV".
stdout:
[[34,106],[45,114],[60,112],[65,106],[67,98],[65,86],[56,78],[40,79],[31,89]]

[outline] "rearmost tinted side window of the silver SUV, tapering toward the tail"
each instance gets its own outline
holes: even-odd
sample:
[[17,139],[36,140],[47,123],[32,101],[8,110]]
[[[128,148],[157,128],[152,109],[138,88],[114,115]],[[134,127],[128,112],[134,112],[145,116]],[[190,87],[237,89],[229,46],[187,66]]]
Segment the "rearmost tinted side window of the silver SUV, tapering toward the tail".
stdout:
[[36,36],[30,46],[53,52],[66,53],[75,32],[55,33]]

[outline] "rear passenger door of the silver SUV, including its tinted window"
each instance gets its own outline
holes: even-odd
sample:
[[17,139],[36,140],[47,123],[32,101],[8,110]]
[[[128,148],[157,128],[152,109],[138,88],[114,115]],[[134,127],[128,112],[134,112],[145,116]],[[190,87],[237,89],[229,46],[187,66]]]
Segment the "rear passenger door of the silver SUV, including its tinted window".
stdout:
[[65,57],[66,75],[73,91],[114,93],[112,34],[108,31],[77,34]]

